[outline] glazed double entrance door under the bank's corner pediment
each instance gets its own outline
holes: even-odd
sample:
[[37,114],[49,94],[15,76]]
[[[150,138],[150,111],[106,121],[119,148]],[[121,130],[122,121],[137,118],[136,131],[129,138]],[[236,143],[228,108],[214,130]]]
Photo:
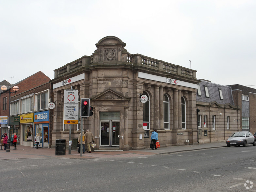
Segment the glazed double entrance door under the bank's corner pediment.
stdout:
[[101,147],[119,147],[119,126],[119,121],[109,120],[101,122]]

